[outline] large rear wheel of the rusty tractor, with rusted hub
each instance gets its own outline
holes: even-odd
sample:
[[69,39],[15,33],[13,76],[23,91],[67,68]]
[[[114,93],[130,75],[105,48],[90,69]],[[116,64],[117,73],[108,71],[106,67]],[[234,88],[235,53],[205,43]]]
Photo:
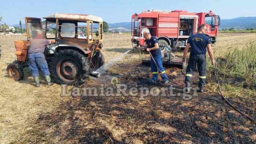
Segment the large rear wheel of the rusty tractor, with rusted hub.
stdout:
[[79,86],[89,76],[89,60],[76,50],[64,49],[52,57],[49,70],[53,82]]

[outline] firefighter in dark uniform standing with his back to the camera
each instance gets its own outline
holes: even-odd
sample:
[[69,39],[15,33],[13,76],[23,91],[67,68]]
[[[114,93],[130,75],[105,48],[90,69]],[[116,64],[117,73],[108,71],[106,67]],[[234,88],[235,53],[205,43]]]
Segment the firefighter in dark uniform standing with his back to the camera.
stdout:
[[192,74],[196,68],[199,72],[199,92],[204,92],[204,85],[206,79],[206,48],[208,54],[212,60],[212,64],[215,64],[213,51],[211,48],[211,39],[209,36],[206,36],[206,25],[202,24],[198,27],[198,33],[190,36],[186,48],[183,53],[183,61],[185,61],[188,49],[190,49],[190,58],[188,61],[188,66],[186,69],[185,84],[186,87],[190,87],[190,82],[192,79]]

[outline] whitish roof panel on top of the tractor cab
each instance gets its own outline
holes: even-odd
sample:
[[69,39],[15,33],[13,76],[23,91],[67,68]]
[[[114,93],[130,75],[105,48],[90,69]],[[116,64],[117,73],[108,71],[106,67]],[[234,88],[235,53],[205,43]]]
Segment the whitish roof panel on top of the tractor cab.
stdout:
[[45,16],[45,19],[67,19],[67,20],[91,20],[94,22],[103,22],[102,18],[88,14],[70,14],[70,13],[55,13],[50,16]]

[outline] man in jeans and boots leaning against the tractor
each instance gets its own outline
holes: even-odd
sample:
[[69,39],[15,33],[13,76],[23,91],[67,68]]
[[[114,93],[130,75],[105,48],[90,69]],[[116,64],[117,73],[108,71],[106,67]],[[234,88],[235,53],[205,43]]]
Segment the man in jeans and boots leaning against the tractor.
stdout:
[[46,45],[54,42],[55,40],[46,40],[43,38],[43,33],[41,30],[32,31],[32,38],[30,39],[30,46],[28,49],[28,64],[30,70],[32,71],[34,81],[36,82],[36,87],[40,86],[38,67],[43,72],[48,86],[52,85],[48,64],[44,57],[44,49]]

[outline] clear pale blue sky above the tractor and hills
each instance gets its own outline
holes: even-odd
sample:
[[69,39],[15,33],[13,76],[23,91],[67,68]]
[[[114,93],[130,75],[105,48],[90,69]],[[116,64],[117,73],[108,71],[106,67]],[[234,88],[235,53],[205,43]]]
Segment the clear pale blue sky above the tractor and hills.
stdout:
[[[1,0],[0,16],[6,24],[19,24],[25,16],[42,18],[56,12],[92,14],[108,23],[130,22],[144,10],[212,10],[222,19],[256,16],[256,0]],[[23,20],[24,21],[24,20]]]

